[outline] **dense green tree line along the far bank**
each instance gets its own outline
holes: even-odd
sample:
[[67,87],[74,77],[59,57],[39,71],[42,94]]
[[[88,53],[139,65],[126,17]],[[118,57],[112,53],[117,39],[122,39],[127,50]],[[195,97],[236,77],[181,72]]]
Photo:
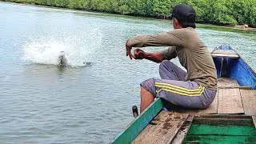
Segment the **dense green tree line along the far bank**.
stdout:
[[94,10],[154,18],[168,18],[173,7],[184,3],[194,7],[197,22],[217,25],[256,27],[255,0],[3,0],[57,6],[78,10]]

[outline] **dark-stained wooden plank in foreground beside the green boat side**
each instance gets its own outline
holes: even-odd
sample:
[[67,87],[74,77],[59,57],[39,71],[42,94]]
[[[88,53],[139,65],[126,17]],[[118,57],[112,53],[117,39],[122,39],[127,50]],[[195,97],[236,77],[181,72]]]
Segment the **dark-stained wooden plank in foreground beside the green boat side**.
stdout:
[[163,116],[159,116],[162,118],[158,119],[158,124],[152,125],[150,128],[146,127],[146,129],[134,139],[134,144],[169,144],[188,117],[188,114],[163,110],[160,115]]

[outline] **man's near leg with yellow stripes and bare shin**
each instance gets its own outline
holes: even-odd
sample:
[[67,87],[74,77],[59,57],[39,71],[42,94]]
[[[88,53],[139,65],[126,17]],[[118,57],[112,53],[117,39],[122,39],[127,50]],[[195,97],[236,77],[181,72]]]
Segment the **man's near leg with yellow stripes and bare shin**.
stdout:
[[[141,83],[141,106],[145,110],[154,98],[164,98],[174,105],[202,109],[213,102],[216,90],[205,90],[196,82],[150,78]],[[152,100],[153,96],[153,100]]]

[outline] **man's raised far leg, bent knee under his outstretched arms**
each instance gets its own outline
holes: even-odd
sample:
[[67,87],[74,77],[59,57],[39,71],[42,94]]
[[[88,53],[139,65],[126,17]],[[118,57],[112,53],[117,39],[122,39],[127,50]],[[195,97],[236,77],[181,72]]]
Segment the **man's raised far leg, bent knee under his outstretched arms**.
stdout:
[[159,74],[162,79],[185,81],[186,71],[176,66],[169,60],[164,60],[159,66]]

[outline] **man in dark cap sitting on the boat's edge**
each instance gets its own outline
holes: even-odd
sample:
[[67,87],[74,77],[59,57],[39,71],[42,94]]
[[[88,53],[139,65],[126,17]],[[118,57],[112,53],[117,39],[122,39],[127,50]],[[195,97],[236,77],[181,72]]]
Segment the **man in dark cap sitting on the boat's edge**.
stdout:
[[[146,109],[154,98],[186,108],[203,109],[214,101],[217,91],[217,74],[214,61],[195,29],[196,13],[193,7],[174,6],[174,30],[165,34],[141,35],[126,42],[126,56],[130,59],[148,59],[161,62],[159,74],[162,79],[150,78],[141,83],[141,109]],[[148,53],[140,49],[130,53],[132,47],[170,46],[161,52]],[[184,71],[170,59],[178,57],[187,70]]]

